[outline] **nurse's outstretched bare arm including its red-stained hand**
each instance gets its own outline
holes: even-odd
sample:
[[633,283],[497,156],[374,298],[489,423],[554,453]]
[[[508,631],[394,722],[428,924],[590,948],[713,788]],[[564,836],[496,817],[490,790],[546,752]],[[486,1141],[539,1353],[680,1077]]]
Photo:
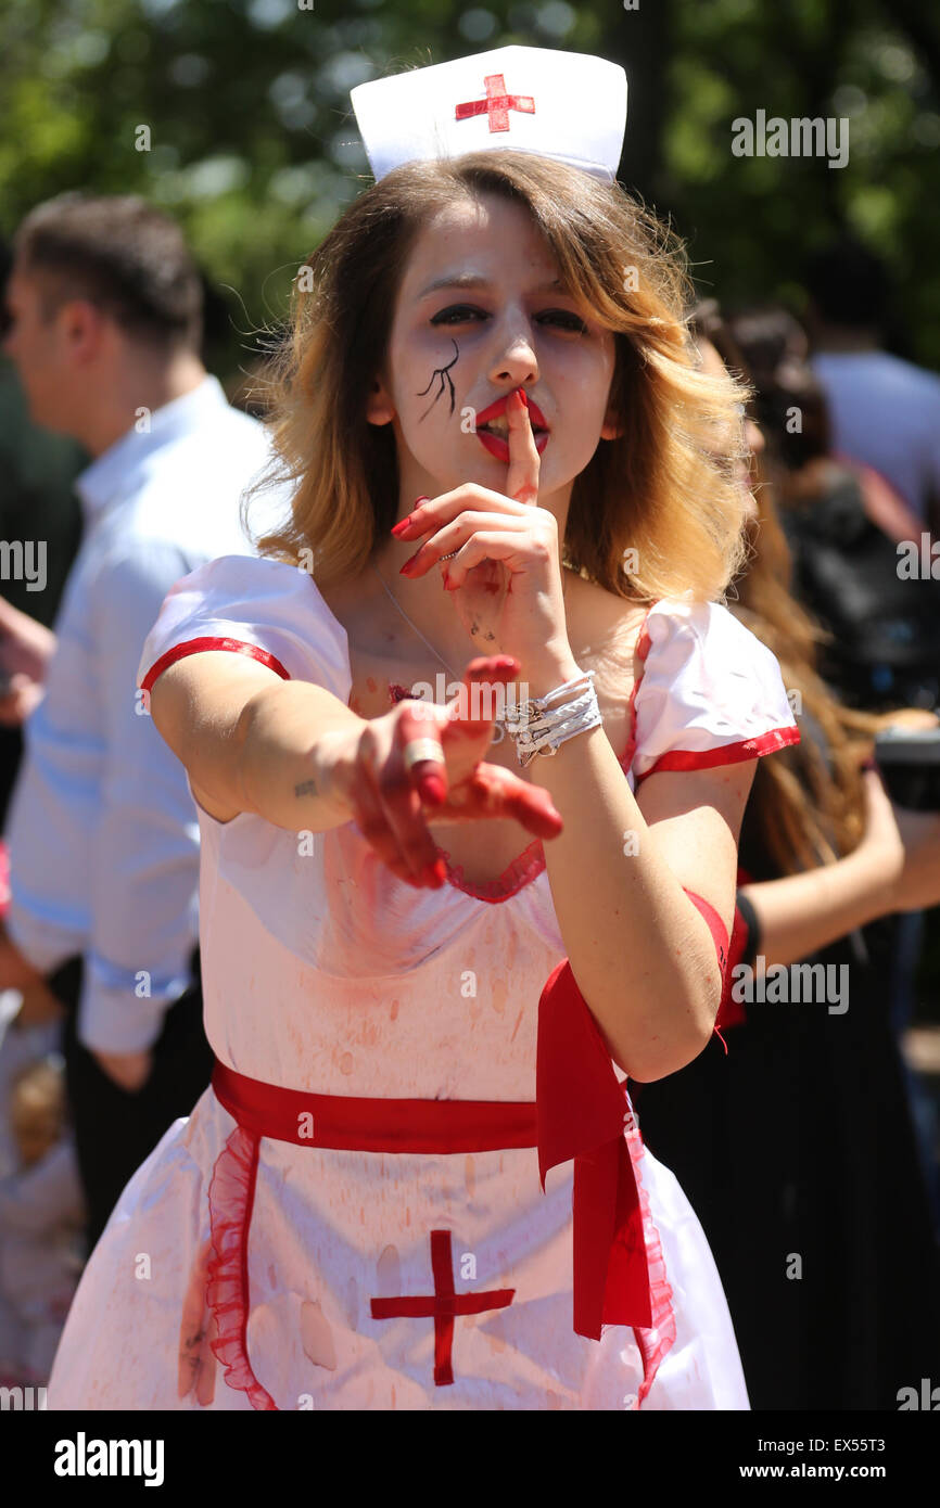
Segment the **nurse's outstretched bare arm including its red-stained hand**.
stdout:
[[[499,656],[477,657],[465,685],[505,682],[516,670]],[[447,876],[429,829],[435,814],[442,822],[515,817],[540,838],[561,828],[543,790],[483,760],[493,719],[471,716],[468,700],[425,707],[406,698],[385,716],[359,718],[320,686],[207,650],[158,676],[151,715],[217,822],[249,811],[288,832],[326,832],[353,820],[398,879],[439,888]],[[444,762],[435,756],[409,769],[409,743],[429,736]]]

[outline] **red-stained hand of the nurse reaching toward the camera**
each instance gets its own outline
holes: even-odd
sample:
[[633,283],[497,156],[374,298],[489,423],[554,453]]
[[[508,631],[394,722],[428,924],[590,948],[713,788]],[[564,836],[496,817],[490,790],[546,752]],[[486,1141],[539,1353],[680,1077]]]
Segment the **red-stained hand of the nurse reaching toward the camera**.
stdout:
[[[474,659],[460,694],[445,707],[404,700],[362,728],[333,730],[318,740],[318,787],[346,807],[379,858],[409,885],[438,890],[447,879],[429,828],[435,819],[515,817],[539,838],[561,832],[546,790],[502,765],[483,763],[493,737],[492,688],[508,685],[518,673],[518,661],[508,656]],[[475,697],[471,686],[478,688]],[[404,751],[416,739],[439,743],[442,759],[409,769]]]

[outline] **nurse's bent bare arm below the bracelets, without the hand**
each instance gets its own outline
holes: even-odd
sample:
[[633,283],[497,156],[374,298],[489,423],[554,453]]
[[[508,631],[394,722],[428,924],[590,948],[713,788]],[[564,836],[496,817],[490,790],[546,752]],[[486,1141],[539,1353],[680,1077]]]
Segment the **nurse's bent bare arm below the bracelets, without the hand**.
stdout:
[[[560,665],[534,695],[573,673]],[[602,728],[531,765],[566,823],[546,867],[572,973],[613,1060],[640,1083],[677,1072],[711,1038],[721,971],[683,887],[730,932],[754,768],[662,772],[634,798]]]

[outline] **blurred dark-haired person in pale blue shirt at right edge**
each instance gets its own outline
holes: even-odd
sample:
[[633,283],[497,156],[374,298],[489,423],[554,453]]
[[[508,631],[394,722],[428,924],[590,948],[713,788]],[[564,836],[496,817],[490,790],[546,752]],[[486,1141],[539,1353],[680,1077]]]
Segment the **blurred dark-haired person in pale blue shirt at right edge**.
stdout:
[[812,368],[822,385],[833,449],[887,478],[925,529],[940,531],[940,377],[881,350],[887,274],[846,240],[807,271]]

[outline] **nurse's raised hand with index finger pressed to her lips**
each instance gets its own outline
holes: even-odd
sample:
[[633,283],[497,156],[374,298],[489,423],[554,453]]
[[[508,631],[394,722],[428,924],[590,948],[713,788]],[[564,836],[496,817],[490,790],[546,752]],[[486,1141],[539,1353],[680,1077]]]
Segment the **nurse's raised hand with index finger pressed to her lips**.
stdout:
[[[518,389],[521,392],[522,389]],[[519,679],[549,677],[573,667],[564,618],[558,525],[539,507],[539,451],[528,409],[513,394],[505,495],[475,483],[421,502],[397,531],[400,540],[430,537],[406,575],[422,576],[442,555],[442,579],[478,654],[511,654]],[[537,694],[537,692],[536,692]]]

